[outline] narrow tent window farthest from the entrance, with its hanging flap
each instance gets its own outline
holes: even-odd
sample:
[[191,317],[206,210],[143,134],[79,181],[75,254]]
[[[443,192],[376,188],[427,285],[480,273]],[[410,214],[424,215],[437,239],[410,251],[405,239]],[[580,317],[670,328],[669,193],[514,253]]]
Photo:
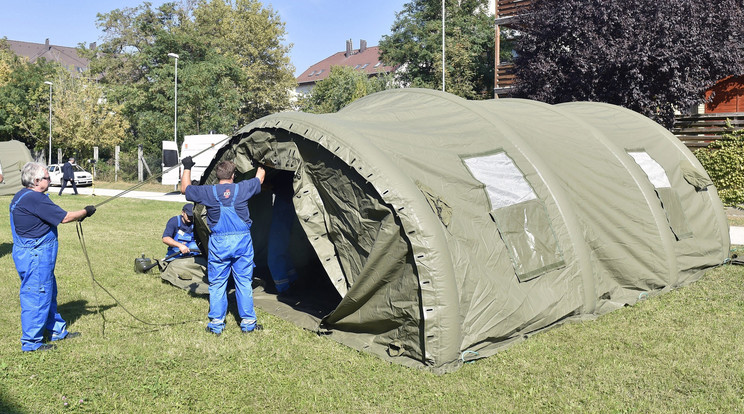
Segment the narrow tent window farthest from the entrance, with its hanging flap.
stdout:
[[672,188],[664,168],[645,151],[628,151],[628,155],[633,157],[653,184],[656,195],[659,197],[661,206],[666,213],[669,228],[671,228],[677,240],[692,237],[692,231],[687,224],[687,217],[682,208],[679,194],[677,194],[677,190]]

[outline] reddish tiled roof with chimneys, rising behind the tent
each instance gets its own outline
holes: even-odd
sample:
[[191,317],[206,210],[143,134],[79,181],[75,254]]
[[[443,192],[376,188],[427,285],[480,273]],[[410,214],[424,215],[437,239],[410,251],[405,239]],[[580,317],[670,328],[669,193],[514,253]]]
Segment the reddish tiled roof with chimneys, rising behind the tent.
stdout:
[[380,61],[380,48],[371,46],[363,51],[361,49],[352,50],[349,56],[346,56],[346,52],[335,53],[307,68],[297,77],[297,83],[302,85],[321,81],[331,73],[331,66],[350,66],[370,76],[395,70],[395,66],[385,66]]

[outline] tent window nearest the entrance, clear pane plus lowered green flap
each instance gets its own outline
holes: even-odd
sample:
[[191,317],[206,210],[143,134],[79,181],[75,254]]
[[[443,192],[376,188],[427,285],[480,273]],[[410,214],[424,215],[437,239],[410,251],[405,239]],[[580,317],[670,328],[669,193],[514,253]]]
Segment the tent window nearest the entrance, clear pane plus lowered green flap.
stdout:
[[484,184],[496,222],[520,282],[565,265],[545,205],[504,152],[464,160]]

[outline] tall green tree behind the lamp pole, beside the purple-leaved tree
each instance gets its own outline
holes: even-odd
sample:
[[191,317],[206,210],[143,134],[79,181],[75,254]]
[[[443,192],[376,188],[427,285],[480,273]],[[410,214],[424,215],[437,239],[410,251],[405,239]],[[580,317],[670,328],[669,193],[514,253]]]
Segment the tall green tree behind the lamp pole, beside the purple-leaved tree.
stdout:
[[[401,80],[414,87],[442,87],[442,2],[411,0],[391,34],[380,40],[386,64],[404,65]],[[468,99],[492,96],[494,25],[488,0],[447,0],[445,89]]]

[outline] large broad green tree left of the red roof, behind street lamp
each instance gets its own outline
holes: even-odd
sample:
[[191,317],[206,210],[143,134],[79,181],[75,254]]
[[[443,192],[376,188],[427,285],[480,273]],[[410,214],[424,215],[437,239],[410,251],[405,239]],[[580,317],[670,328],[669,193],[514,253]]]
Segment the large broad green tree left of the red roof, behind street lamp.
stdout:
[[[149,3],[98,16],[106,33],[88,51],[92,73],[123,106],[132,139],[157,151],[173,137],[174,61],[178,60],[178,132],[232,133],[289,107],[294,86],[284,24],[257,0]],[[81,50],[81,53],[86,53]]]

